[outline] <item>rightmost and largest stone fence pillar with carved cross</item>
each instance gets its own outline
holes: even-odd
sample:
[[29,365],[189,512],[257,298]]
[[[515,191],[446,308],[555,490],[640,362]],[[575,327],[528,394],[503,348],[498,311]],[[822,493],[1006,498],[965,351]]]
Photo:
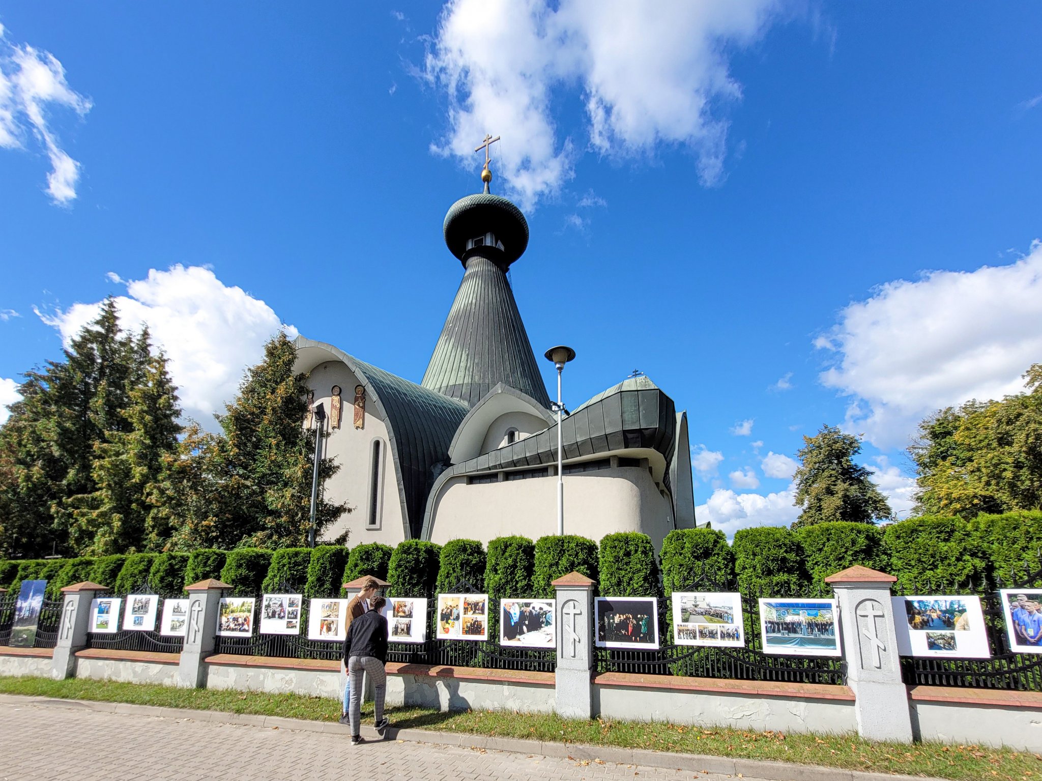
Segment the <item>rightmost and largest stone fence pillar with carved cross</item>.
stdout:
[[912,717],[890,601],[890,585],[896,580],[860,565],[825,578],[839,603],[847,683],[857,698],[858,734],[910,744]]

